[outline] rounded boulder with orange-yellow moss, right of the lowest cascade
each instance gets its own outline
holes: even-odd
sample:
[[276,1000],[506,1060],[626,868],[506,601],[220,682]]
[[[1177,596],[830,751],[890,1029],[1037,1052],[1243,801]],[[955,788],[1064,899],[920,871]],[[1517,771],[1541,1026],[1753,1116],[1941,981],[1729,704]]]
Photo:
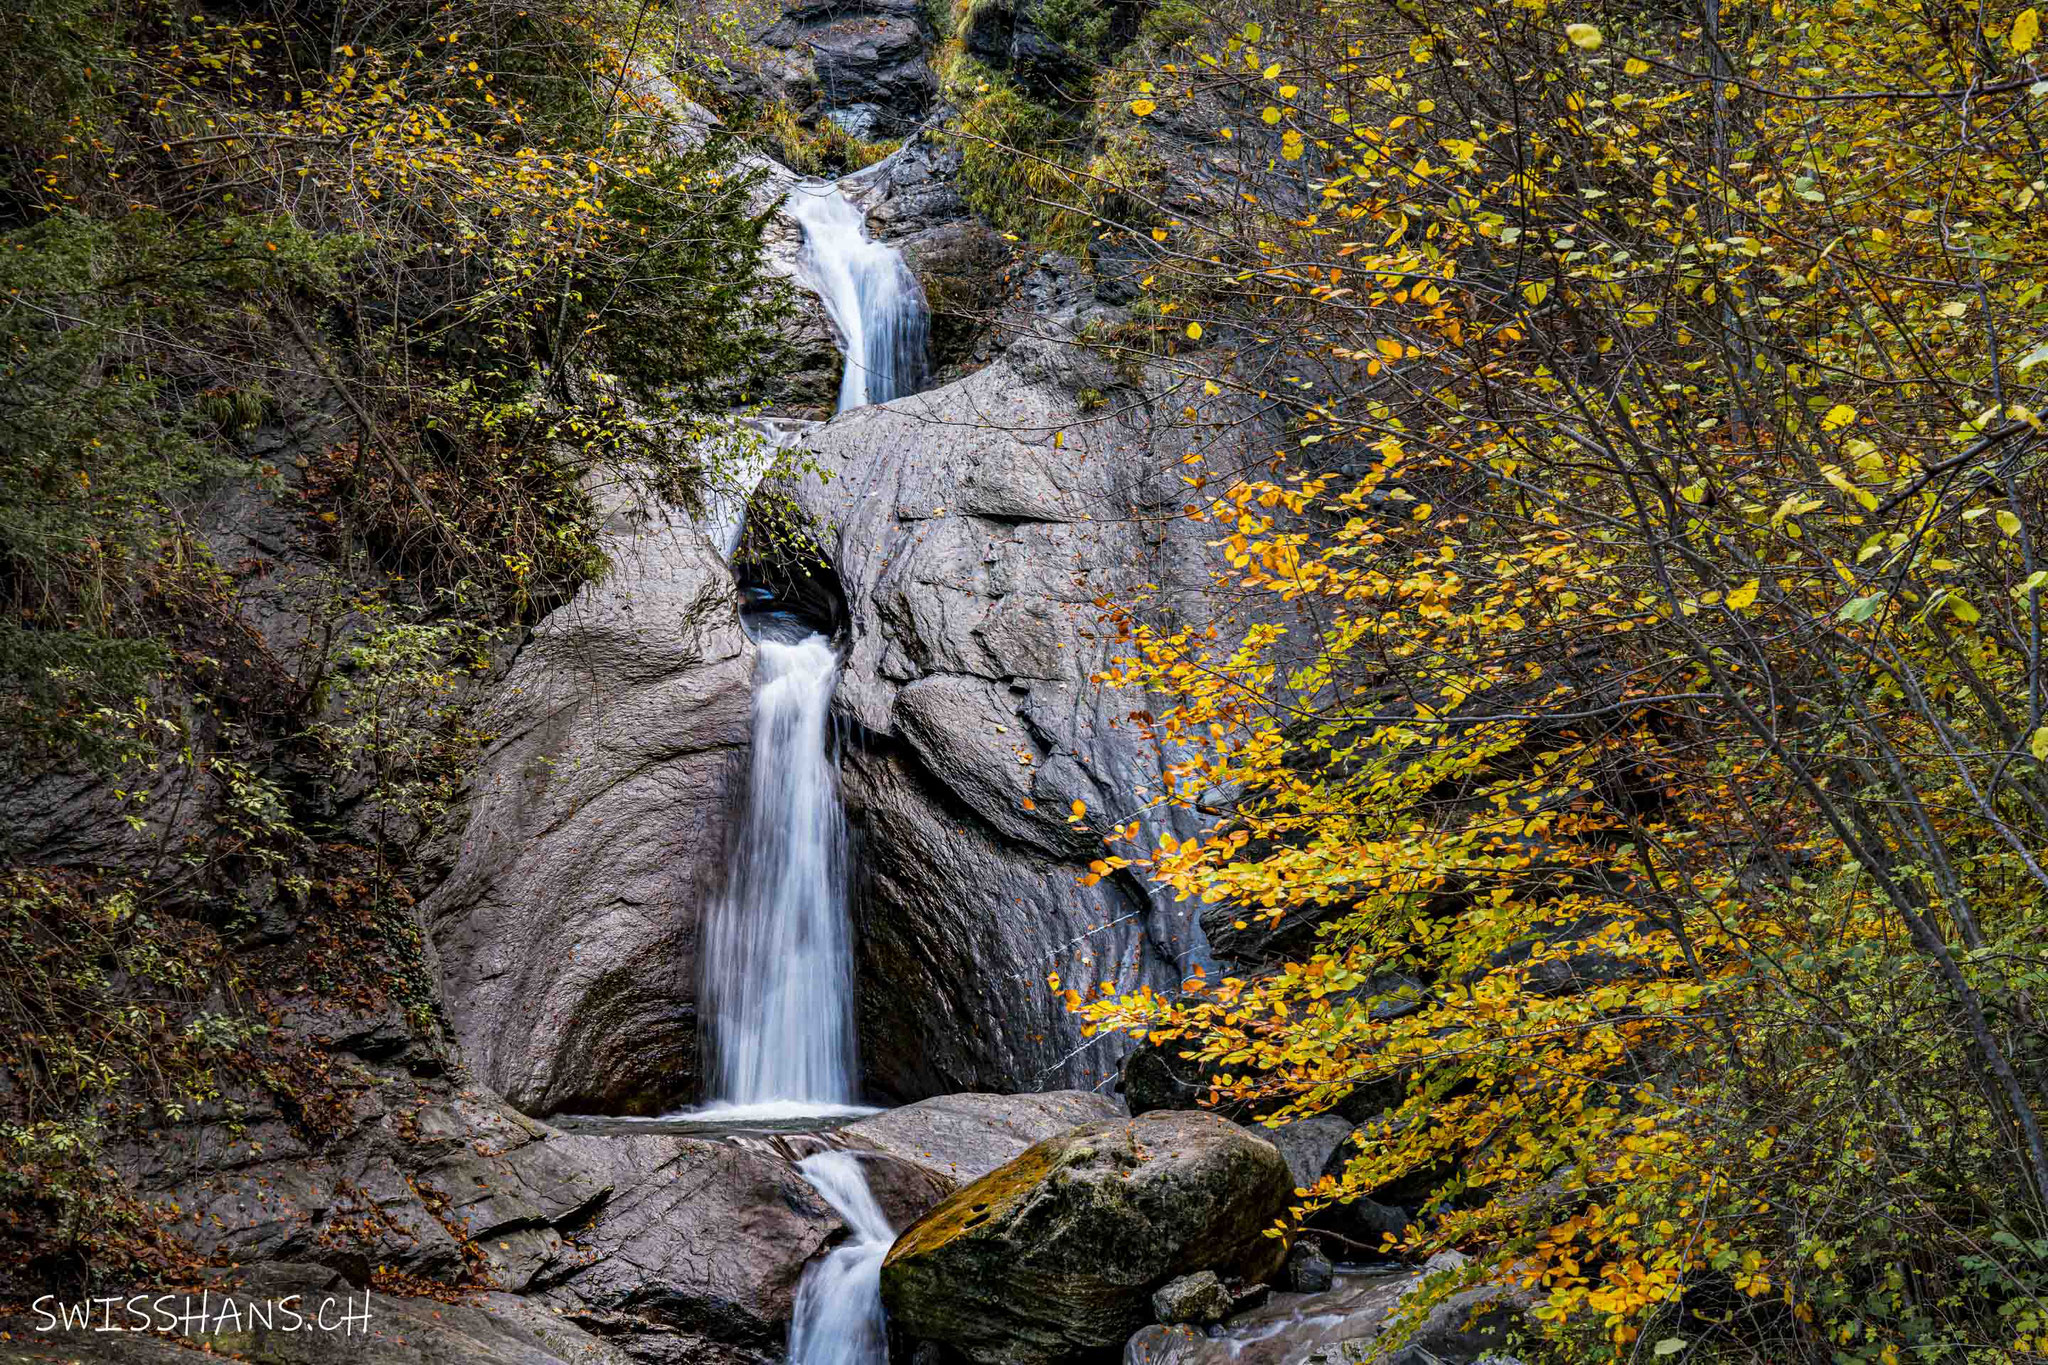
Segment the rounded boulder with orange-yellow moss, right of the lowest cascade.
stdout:
[[1292,1189],[1270,1142],[1212,1113],[1083,1124],[920,1218],[883,1263],[883,1304],[979,1365],[1100,1353],[1178,1275],[1272,1275],[1286,1244],[1266,1230]]

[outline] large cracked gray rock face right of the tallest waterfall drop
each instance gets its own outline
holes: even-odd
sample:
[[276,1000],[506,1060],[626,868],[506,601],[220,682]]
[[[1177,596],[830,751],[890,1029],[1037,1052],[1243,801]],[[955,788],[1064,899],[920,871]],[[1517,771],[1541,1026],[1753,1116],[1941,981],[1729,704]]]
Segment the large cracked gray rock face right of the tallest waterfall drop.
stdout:
[[[1018,336],[958,383],[807,440],[829,481],[793,493],[850,612],[838,708],[874,1095],[1092,1089],[1128,1042],[1083,1038],[1047,978],[1178,988],[1210,964],[1196,902],[1130,872],[1081,880],[1106,817],[1128,819],[1171,761],[1128,724],[1149,698],[1092,681],[1116,655],[1098,600],[1155,585],[1161,616],[1214,620],[1182,446],[1147,417],[1165,395],[1073,340],[1114,321],[1069,307],[1040,323],[1067,336]],[[1137,819],[1147,845],[1210,823]]]

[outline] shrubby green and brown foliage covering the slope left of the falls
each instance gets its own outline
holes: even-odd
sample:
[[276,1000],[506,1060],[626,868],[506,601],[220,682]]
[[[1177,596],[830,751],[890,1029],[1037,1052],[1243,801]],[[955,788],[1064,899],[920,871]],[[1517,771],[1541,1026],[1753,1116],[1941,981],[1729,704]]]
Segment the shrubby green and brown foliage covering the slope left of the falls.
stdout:
[[[346,1121],[287,995],[434,1046],[475,684],[602,573],[594,477],[702,497],[786,299],[733,147],[678,149],[684,20],[0,2],[0,761],[113,808],[106,866],[0,833],[4,1291],[178,1263],[100,1158],[139,1128]],[[289,585],[215,561],[244,501]]]

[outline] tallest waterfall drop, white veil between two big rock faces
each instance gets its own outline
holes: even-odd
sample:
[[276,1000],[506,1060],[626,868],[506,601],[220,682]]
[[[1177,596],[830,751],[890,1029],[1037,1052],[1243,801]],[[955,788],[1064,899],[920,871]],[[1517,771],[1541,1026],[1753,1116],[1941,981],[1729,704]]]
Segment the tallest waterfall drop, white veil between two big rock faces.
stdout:
[[829,729],[840,659],[821,634],[778,632],[760,641],[748,810],[702,943],[709,1111],[754,1117],[846,1109],[858,1074]]

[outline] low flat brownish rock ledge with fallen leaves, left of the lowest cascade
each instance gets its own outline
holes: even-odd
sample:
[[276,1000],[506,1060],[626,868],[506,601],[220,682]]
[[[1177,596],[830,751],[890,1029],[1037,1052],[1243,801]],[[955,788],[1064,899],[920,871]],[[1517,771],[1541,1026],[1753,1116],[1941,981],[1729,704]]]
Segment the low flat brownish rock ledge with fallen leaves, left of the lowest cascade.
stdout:
[[[481,1281],[604,1336],[678,1338],[733,1361],[780,1349],[805,1261],[842,1232],[774,1146],[565,1134],[483,1091],[348,1083],[354,1121],[317,1150],[252,1105],[111,1158],[141,1197],[176,1209],[168,1232],[217,1263]],[[905,1171],[922,1181],[895,1185],[926,1191],[907,1212],[944,1193],[922,1166]]]

